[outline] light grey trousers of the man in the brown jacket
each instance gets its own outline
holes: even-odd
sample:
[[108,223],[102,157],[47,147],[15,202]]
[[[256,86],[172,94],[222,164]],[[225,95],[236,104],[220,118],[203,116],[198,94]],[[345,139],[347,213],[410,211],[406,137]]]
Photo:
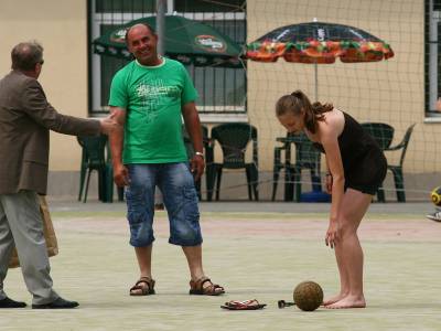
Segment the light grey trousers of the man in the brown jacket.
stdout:
[[0,300],[6,298],[3,280],[12,249],[17,247],[20,266],[33,305],[54,301],[43,220],[37,195],[33,191],[0,194]]

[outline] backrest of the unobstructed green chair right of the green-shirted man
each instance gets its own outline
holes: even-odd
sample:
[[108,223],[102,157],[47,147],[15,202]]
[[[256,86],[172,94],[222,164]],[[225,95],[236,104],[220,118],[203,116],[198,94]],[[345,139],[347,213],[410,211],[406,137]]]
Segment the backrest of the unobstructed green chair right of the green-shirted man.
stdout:
[[245,167],[245,151],[252,141],[252,162],[258,163],[257,129],[244,122],[228,122],[212,129],[212,139],[218,141],[224,153],[224,168]]

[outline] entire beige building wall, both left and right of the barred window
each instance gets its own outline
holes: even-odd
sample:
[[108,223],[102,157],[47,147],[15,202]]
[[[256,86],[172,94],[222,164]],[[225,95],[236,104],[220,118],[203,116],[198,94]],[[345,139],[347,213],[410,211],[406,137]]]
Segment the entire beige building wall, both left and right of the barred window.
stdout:
[[[406,171],[440,171],[435,143],[441,124],[424,124],[423,0],[248,0],[248,41],[284,24],[321,21],[354,25],[390,43],[395,57],[367,64],[319,65],[319,99],[332,102],[361,121],[387,121],[396,140],[417,122]],[[8,73],[10,50],[36,39],[45,47],[40,78],[61,113],[87,116],[87,9],[80,0],[1,0],[0,73]],[[284,130],[273,116],[279,96],[295,88],[314,92],[313,66],[297,63],[248,64],[248,111],[259,129],[260,170],[272,169],[272,150]],[[76,171],[76,139],[52,134],[51,170]]]

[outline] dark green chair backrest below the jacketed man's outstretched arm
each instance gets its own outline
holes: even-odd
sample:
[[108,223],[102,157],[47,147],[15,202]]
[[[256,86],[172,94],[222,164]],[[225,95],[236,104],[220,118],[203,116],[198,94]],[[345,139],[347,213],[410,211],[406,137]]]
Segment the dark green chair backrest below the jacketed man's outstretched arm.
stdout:
[[87,167],[99,169],[106,166],[107,136],[77,137],[78,143],[85,152]]

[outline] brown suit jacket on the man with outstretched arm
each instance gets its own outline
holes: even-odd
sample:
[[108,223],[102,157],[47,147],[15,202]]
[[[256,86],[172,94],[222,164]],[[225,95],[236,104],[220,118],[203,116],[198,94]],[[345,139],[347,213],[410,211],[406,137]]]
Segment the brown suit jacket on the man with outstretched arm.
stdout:
[[94,136],[100,125],[58,114],[36,79],[18,71],[4,76],[0,81],[0,194],[20,190],[46,194],[50,130]]

